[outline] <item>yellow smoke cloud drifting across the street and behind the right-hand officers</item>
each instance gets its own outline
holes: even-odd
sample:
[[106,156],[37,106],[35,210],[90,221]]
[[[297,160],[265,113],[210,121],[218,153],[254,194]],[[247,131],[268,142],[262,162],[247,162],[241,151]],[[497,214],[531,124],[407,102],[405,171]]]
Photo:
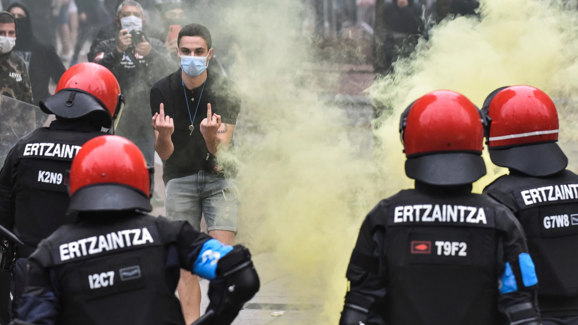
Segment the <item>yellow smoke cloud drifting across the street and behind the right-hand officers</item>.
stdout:
[[[303,0],[239,1],[219,8],[218,22],[208,24],[240,45],[231,77],[243,106],[236,150],[222,159],[239,165],[239,238],[253,252],[275,253],[275,272],[291,277],[287,289],[296,301],[323,304],[315,323],[338,322],[347,262],[365,214],[413,184],[403,171],[398,134],[407,104],[435,89],[461,92],[480,107],[503,85],[529,84],[555,98],[575,93],[575,12],[546,0],[487,0],[480,12],[481,18],[443,21],[411,59],[398,62],[395,74],[369,89],[376,103],[393,108],[379,121],[373,159],[351,140],[360,131],[343,111],[317,98],[305,64],[313,47],[301,31]],[[570,106],[561,110],[566,140],[576,125],[572,113]],[[487,162],[477,192],[503,173]]]

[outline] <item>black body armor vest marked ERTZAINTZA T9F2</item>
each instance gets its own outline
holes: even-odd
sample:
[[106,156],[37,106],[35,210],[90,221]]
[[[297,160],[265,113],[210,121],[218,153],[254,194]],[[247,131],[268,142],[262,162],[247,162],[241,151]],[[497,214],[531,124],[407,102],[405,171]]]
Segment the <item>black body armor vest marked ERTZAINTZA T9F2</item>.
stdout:
[[386,201],[387,323],[494,325],[497,204],[416,190]]

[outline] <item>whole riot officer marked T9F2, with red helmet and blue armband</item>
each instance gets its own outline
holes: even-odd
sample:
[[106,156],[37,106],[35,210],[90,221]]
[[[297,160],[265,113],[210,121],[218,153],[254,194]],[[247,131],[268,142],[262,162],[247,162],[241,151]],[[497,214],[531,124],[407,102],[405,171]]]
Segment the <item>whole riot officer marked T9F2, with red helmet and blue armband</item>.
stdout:
[[362,223],[340,325],[538,325],[520,224],[471,193],[486,174],[477,107],[431,92],[407,107],[400,132],[415,189],[382,200]]

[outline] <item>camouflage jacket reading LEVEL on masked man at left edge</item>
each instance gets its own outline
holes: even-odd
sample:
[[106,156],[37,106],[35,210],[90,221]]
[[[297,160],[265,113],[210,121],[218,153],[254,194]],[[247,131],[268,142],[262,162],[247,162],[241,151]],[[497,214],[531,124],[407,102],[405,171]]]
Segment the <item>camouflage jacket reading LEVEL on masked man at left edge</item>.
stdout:
[[0,55],[0,95],[34,104],[24,60],[14,52]]

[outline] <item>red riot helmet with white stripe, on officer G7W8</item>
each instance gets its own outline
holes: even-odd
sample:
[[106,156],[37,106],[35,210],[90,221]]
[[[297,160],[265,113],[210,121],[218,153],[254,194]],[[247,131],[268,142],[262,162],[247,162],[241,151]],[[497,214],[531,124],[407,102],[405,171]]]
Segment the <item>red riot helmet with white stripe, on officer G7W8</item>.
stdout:
[[492,162],[534,177],[558,173],[568,158],[558,144],[558,113],[538,88],[517,85],[493,91],[484,102],[486,143]]

